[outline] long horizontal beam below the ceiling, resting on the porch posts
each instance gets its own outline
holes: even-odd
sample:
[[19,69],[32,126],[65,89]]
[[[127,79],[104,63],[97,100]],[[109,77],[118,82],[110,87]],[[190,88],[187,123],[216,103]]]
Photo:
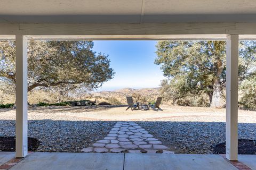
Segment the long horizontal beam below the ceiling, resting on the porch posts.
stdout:
[[[225,34],[236,29],[234,22],[215,23],[0,23],[0,35],[30,36],[136,36],[136,35],[206,35]],[[240,25],[243,29],[243,24]],[[19,33],[20,34],[20,33]],[[255,31],[256,34],[256,31]],[[116,37],[118,38],[118,37]]]

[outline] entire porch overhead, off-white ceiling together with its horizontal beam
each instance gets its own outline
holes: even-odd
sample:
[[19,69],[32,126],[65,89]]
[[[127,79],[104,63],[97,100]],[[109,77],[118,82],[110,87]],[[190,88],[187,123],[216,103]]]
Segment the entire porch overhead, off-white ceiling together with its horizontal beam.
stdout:
[[256,39],[249,0],[2,0],[0,39]]

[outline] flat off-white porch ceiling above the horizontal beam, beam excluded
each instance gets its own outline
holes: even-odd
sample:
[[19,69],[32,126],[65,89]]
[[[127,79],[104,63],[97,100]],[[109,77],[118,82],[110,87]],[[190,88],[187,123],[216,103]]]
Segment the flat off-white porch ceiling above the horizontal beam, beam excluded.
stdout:
[[0,23],[256,22],[254,0],[1,0]]

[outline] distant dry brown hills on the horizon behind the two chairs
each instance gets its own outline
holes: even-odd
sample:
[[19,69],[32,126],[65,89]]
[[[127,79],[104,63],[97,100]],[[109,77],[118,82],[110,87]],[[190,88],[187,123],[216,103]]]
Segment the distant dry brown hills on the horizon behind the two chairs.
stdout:
[[160,88],[143,88],[143,89],[132,89],[132,88],[123,88],[115,91],[99,91],[93,92],[92,95],[95,98],[109,98],[114,97],[121,101],[121,103],[126,103],[126,96],[132,96],[132,94],[139,94],[142,97],[146,97],[147,100],[155,100],[159,96]]

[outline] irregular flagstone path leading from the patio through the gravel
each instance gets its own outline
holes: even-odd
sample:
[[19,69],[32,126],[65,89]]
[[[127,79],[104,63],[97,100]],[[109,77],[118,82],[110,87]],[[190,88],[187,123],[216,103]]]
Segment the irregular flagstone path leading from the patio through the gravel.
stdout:
[[174,154],[162,142],[134,122],[117,122],[107,137],[82,152],[129,152]]

